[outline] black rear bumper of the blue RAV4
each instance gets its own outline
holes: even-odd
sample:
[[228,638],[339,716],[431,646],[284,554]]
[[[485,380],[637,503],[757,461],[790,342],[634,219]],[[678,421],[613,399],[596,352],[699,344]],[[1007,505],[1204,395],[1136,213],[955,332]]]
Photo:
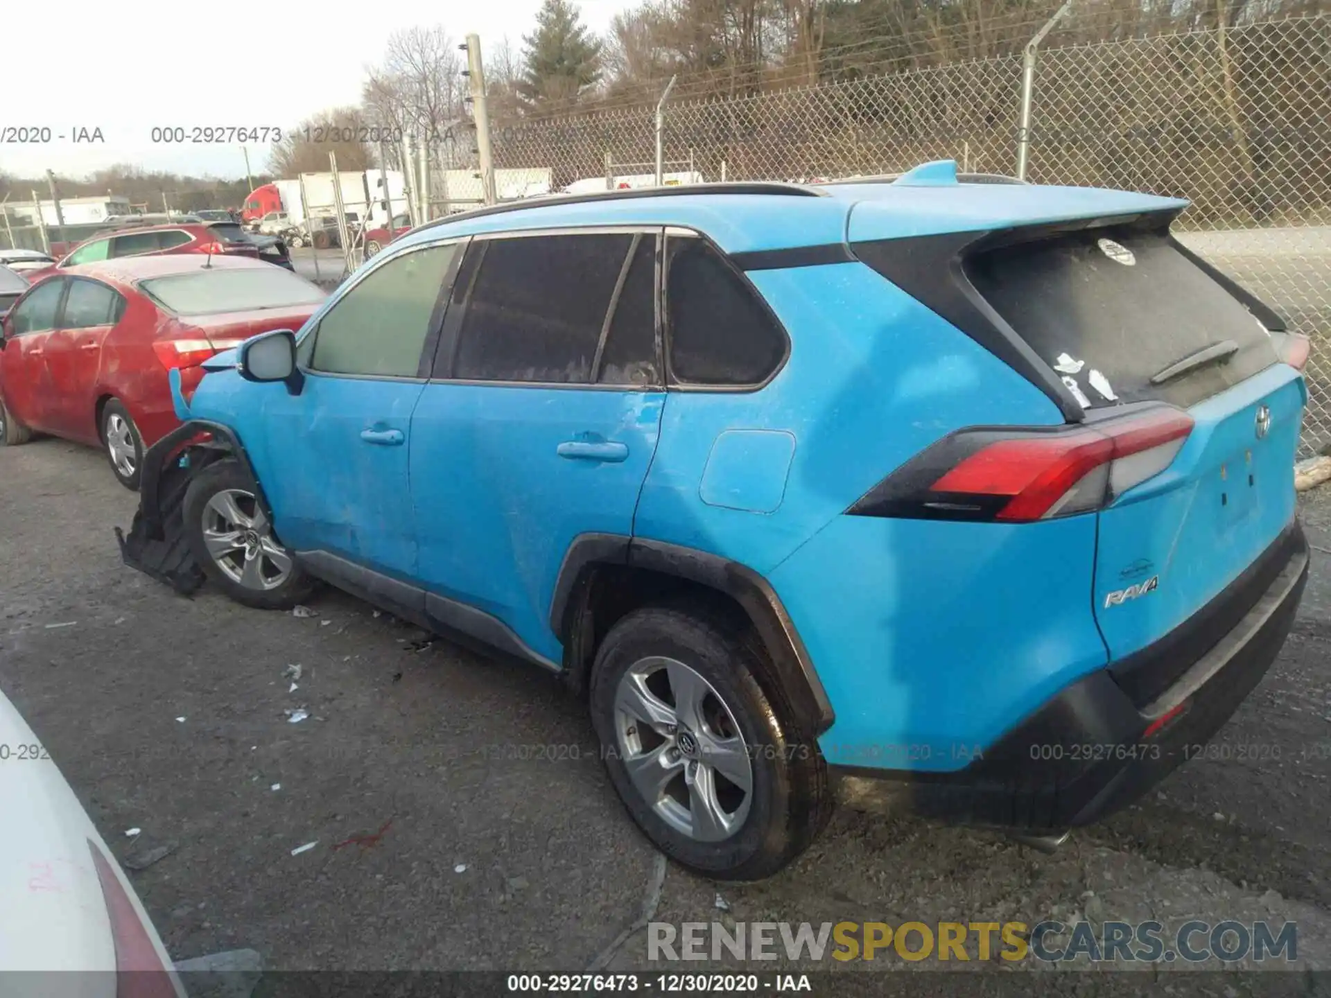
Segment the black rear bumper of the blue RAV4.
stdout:
[[[1308,578],[1308,546],[1298,522],[1254,568],[1267,584],[1236,620],[1222,623],[1210,612],[1215,603],[1233,600],[1230,587],[1171,635],[1135,653],[1130,669],[1114,663],[1063,688],[965,769],[835,768],[843,796],[869,806],[880,800],[909,804],[932,817],[1036,832],[1107,817],[1195,754],[1279,653]],[[1246,572],[1236,584],[1251,591],[1252,575]],[[1191,652],[1183,668],[1181,648]],[[1174,679],[1142,704],[1133,695],[1139,695],[1143,676],[1157,672]]]

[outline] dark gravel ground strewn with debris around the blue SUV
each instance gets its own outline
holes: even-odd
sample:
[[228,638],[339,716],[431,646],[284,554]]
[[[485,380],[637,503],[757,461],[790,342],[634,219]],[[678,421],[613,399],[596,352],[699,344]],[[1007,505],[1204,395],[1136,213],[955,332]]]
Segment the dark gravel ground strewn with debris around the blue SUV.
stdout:
[[[250,947],[282,970],[652,967],[643,933],[607,947],[638,918],[658,856],[551,677],[423,643],[335,592],[311,617],[176,597],[120,564],[112,526],[134,504],[95,451],[0,448],[0,689],[122,860],[172,850],[132,876],[176,958]],[[1299,965],[1331,966],[1331,490],[1303,507],[1316,550],[1299,620],[1215,743],[1279,758],[1195,760],[1053,856],[843,809],[781,876],[721,888],[724,914],[715,885],[669,866],[656,918],[1294,919]],[[299,707],[309,720],[289,723]],[[144,833],[130,845],[132,826]],[[1010,985],[994,963],[968,990]],[[1149,983],[1046,973],[1038,990],[1123,979]],[[1170,973],[1165,986],[1278,983],[1322,986],[1292,973]]]

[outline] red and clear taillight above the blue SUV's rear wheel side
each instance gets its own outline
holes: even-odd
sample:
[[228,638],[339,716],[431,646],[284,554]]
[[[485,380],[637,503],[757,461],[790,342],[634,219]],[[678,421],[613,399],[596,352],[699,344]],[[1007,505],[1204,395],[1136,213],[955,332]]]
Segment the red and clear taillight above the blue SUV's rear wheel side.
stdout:
[[1165,406],[1058,430],[961,430],[848,512],[1026,523],[1099,510],[1167,468],[1191,431],[1191,416]]

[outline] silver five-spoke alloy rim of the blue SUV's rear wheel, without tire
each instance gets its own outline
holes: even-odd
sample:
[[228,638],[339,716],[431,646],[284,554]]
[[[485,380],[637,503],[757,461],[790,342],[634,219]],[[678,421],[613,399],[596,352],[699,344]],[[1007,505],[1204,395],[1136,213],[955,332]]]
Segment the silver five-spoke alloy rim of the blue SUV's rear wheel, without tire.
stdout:
[[744,825],[753,765],[735,715],[676,659],[634,663],[615,691],[618,750],[634,788],[666,824],[700,842]]

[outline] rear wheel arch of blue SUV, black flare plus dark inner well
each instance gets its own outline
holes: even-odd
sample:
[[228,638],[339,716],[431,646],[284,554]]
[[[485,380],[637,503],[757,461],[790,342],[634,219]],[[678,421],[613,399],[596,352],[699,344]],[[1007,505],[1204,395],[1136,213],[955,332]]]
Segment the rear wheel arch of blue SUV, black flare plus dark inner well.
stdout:
[[713,593],[739,612],[767,652],[772,681],[808,737],[835,713],[804,641],[772,585],[748,566],[707,551],[615,534],[583,534],[568,546],[550,604],[550,627],[564,645],[564,675],[578,692],[611,625],[647,603]]

